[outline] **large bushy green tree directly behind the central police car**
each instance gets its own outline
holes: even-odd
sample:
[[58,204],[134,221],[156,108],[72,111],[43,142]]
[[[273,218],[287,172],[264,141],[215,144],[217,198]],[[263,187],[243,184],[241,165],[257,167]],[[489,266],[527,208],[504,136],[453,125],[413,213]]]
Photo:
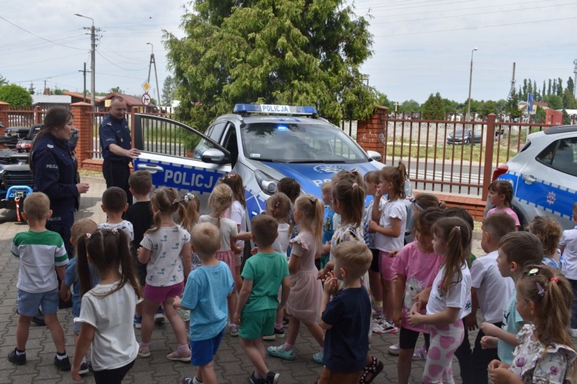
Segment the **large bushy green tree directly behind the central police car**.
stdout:
[[314,105],[333,121],[363,119],[375,91],[359,70],[368,21],[344,0],[195,0],[185,37],[164,33],[178,82],[177,117],[204,130],[238,102]]

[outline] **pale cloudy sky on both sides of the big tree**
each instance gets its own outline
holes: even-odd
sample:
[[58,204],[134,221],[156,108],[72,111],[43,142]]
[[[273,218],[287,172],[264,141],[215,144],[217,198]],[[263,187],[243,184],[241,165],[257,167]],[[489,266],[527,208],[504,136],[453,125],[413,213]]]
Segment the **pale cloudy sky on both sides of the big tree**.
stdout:
[[[373,35],[373,55],[361,71],[392,101],[422,103],[435,92],[465,101],[474,48],[471,97],[476,100],[507,98],[514,62],[517,86],[531,78],[540,89],[545,79],[566,83],[574,76],[577,1],[357,0],[353,5],[358,16],[368,18]],[[84,62],[90,69],[90,36],[83,28],[92,21],[74,16],[78,13],[101,29],[96,92],[119,86],[128,94],[143,93],[153,49],[162,93],[171,74],[163,30],[183,37],[179,25],[186,9],[190,5],[182,0],[8,0],[0,13],[0,75],[25,88],[32,82],[37,92],[44,81],[48,88],[83,92],[79,70]],[[149,93],[156,98],[153,69],[150,82]]]

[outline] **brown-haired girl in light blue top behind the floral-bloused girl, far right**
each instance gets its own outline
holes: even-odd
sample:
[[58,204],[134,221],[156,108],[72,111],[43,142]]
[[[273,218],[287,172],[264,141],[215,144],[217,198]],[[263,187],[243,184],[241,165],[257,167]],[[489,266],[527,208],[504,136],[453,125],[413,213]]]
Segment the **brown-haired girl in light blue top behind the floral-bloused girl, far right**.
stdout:
[[535,216],[529,223],[529,232],[537,236],[543,245],[542,263],[564,274],[567,262],[557,249],[561,234],[563,234],[557,220],[551,216]]

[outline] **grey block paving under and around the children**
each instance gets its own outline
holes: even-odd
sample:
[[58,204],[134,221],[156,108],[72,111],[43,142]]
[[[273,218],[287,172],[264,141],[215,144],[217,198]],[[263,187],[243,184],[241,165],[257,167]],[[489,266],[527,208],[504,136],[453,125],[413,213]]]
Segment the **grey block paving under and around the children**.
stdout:
[[[105,216],[100,210],[100,197],[105,184],[102,178],[86,178],[91,184],[90,192],[83,195],[77,218],[91,218],[95,222],[103,222]],[[18,261],[10,256],[10,242],[14,234],[27,229],[26,226],[14,223],[16,215],[13,211],[0,212],[0,384],[2,383],[71,383],[69,372],[59,372],[53,366],[55,348],[48,329],[32,325],[27,345],[28,363],[25,366],[15,366],[8,362],[5,356],[16,346],[16,281]],[[475,254],[482,254],[479,240],[474,241]],[[58,317],[66,335],[67,351],[74,353],[72,336],[72,315],[70,309],[58,311]],[[137,339],[140,331],[136,330]],[[268,358],[271,370],[280,372],[281,383],[313,383],[319,375],[321,366],[312,360],[312,354],[317,351],[314,339],[304,329],[304,336],[297,340],[298,358],[293,362]],[[476,332],[470,335],[474,340]],[[281,339],[282,340],[282,339]],[[387,347],[398,341],[398,336],[373,335],[372,353],[383,361],[385,368],[374,380],[374,383],[396,382],[396,357],[388,355]],[[271,342],[267,345],[282,343]],[[419,340],[419,343],[422,343]],[[170,362],[165,356],[175,348],[174,334],[170,325],[156,325],[152,334],[151,352],[148,359],[137,358],[136,364],[125,378],[125,383],[177,383],[185,376],[193,374],[193,367],[186,363]],[[424,362],[414,362],[411,371],[411,383],[421,382]],[[226,335],[215,359],[215,370],[219,383],[246,383],[253,371],[248,358],[242,352],[238,338]],[[459,366],[454,360],[453,370],[455,381],[460,382]],[[93,382],[91,375],[84,382]]]

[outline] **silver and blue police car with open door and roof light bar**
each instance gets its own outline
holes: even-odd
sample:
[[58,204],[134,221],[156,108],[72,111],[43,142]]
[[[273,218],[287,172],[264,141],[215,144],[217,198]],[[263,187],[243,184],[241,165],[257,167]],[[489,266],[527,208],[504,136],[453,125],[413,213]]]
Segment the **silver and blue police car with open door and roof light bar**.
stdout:
[[[340,170],[365,174],[384,166],[379,153],[365,152],[318,117],[314,107],[237,104],[233,113],[217,117],[205,134],[175,120],[136,114],[133,130],[141,151],[134,169],[151,172],[155,188],[196,193],[206,212],[218,179],[237,173],[245,184],[249,222],[265,210],[265,201],[283,177],[295,178],[304,193],[320,198],[321,185]],[[409,181],[405,189],[410,196]]]

